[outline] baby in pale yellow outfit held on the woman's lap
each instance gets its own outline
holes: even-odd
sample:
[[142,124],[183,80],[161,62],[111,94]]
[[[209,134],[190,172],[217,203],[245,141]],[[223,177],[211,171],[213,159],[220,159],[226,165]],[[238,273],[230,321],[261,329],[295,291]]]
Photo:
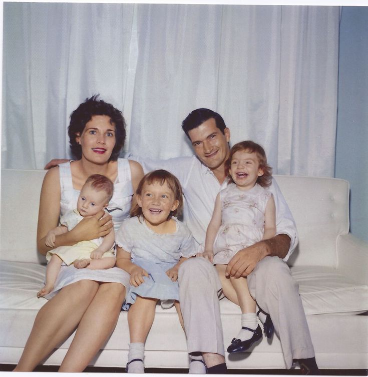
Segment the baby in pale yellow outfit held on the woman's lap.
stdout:
[[[46,236],[46,245],[55,246],[56,236],[72,230],[85,216],[96,215],[105,209],[113,196],[114,184],[101,174],[91,175],[83,185],[77,201],[77,209],[61,217],[61,225],[51,229]],[[72,246],[60,246],[48,251],[45,286],[37,293],[42,297],[50,293],[62,264],[74,264],[76,268],[106,269],[115,265],[114,230],[98,239],[80,241]]]

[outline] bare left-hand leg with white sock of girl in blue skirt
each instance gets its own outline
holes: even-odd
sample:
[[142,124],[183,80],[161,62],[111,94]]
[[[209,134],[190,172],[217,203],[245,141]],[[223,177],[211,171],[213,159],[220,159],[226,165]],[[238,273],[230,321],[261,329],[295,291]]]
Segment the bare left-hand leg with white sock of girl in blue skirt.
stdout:
[[144,373],[144,343],[155,318],[156,302],[156,298],[137,296],[136,302],[129,308],[128,373]]

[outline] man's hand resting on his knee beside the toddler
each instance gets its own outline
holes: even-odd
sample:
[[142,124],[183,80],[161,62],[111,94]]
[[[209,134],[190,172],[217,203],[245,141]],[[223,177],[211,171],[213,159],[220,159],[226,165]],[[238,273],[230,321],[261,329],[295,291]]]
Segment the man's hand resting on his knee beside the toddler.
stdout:
[[239,250],[229,261],[225,270],[225,276],[247,276],[249,275],[255,265],[267,256],[267,245],[263,241],[257,242],[254,245]]

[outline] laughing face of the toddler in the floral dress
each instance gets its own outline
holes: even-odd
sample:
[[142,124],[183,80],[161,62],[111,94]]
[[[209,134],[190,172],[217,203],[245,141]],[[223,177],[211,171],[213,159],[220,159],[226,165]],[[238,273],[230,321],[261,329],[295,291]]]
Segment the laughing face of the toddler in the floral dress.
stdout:
[[263,175],[255,152],[240,150],[233,154],[229,174],[240,190],[249,190]]

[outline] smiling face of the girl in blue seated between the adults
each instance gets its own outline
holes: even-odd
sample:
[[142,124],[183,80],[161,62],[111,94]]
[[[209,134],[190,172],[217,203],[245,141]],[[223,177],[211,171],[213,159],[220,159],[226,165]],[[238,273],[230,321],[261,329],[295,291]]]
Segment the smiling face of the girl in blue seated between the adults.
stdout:
[[171,211],[178,208],[179,201],[166,182],[145,183],[141,195],[137,195],[137,204],[142,208],[146,224],[154,228],[165,223]]

